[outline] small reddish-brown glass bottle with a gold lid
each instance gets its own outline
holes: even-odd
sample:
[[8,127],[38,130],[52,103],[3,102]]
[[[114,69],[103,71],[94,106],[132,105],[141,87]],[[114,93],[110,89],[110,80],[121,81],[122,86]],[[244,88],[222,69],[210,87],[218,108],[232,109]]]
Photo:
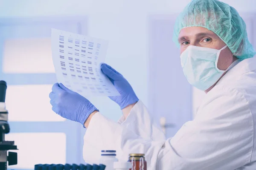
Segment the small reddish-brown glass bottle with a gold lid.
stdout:
[[147,162],[145,160],[145,154],[131,153],[129,154],[129,162],[131,162],[130,170],[147,170]]

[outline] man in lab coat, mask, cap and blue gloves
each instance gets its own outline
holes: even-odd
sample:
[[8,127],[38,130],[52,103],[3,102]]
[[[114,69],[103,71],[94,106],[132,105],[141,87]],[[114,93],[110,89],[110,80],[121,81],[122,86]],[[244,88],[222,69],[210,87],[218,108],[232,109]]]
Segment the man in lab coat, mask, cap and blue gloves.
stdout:
[[57,83],[50,93],[53,111],[87,128],[88,163],[101,149],[113,149],[122,161],[145,153],[148,170],[255,170],[256,53],[244,21],[218,0],[192,0],[177,18],[174,41],[184,75],[207,95],[195,119],[172,138],[165,139],[131,85],[106,64],[102,72],[121,94],[110,97],[123,111],[118,123]]

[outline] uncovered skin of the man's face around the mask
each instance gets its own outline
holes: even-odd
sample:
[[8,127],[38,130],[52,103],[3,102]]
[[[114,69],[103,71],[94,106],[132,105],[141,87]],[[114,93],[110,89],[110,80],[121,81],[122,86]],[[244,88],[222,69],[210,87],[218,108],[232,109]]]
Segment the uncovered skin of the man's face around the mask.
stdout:
[[[214,32],[204,27],[187,27],[180,31],[178,41],[180,43],[180,54],[186,50],[189,45],[198,47],[214,48],[220,50],[226,44]],[[220,70],[226,70],[233,62],[233,54],[229,48],[221,51],[217,67]]]

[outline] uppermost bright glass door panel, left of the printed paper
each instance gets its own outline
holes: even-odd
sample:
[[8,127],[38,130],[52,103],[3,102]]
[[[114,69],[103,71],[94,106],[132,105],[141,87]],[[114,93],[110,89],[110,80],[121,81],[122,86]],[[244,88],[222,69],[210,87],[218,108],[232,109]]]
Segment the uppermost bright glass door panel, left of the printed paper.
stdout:
[[51,38],[6,39],[4,73],[54,73]]

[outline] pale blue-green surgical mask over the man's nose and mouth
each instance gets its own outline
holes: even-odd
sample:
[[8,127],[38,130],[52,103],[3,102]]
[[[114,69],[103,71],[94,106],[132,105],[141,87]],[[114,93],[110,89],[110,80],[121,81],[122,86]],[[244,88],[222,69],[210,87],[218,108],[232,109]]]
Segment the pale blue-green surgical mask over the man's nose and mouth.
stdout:
[[224,71],[217,68],[221,50],[189,45],[180,55],[183,73],[188,82],[205,91],[215,84]]

